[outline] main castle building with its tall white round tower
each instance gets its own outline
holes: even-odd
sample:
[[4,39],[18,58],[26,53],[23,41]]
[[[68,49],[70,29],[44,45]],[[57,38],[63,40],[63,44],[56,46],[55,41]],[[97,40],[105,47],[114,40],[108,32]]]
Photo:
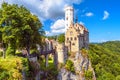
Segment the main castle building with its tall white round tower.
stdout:
[[65,46],[70,52],[77,52],[82,48],[88,49],[89,32],[77,21],[74,23],[74,8],[65,8]]

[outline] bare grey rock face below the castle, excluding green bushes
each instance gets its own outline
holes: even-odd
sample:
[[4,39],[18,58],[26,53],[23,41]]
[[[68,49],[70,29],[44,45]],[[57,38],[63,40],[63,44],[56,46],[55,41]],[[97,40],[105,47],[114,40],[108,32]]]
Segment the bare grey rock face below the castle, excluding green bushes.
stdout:
[[69,57],[74,63],[75,73],[67,71],[65,68],[61,68],[58,74],[58,80],[85,80],[85,71],[91,70],[93,73],[93,80],[96,80],[95,73],[91,67],[90,60],[84,57],[81,53],[74,53],[74,57]]

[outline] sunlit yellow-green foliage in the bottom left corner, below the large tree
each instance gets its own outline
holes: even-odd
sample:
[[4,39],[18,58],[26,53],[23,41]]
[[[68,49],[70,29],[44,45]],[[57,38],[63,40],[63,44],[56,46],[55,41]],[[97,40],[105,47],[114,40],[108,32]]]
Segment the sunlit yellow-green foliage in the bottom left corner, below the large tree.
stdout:
[[28,71],[28,61],[25,58],[9,56],[0,59],[0,80],[21,80],[22,70]]

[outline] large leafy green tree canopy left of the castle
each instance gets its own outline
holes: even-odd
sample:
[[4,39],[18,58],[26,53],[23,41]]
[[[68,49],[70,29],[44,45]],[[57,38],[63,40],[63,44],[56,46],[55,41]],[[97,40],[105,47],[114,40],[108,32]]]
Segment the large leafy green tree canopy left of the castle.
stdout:
[[24,6],[3,3],[0,8],[1,42],[6,44],[7,53],[15,53],[16,48],[26,49],[28,53],[36,44],[41,44],[44,35],[42,24]]

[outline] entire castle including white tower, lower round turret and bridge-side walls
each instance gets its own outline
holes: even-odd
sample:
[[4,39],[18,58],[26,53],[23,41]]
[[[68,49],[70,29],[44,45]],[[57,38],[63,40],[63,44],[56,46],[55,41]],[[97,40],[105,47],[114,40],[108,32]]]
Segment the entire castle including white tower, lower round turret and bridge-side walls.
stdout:
[[[65,8],[65,44],[59,44],[57,41],[45,39],[43,53],[46,53],[46,61],[48,64],[48,55],[53,52],[54,61],[65,63],[68,52],[79,52],[80,49],[88,49],[89,32],[78,22],[74,22],[74,9],[71,6]],[[41,50],[40,50],[41,51]],[[42,52],[41,52],[42,53]],[[56,62],[55,62],[56,63]]]

